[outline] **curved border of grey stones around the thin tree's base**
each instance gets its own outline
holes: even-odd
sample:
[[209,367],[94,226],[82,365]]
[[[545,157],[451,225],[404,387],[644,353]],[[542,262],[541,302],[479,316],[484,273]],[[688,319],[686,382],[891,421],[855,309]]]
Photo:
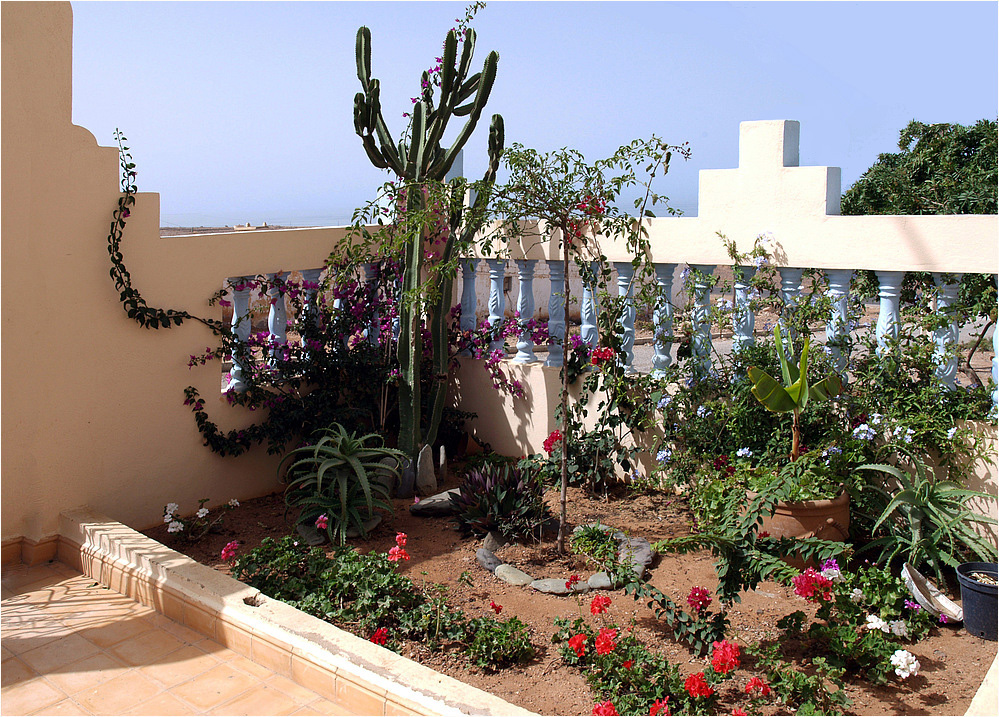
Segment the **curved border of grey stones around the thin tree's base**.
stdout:
[[[597,521],[596,523],[577,525],[572,532],[575,535],[584,528],[589,527],[614,530],[611,526],[603,525]],[[613,537],[618,543],[618,559],[622,562],[630,559],[632,570],[634,570],[637,577],[641,578],[642,575],[645,574],[645,569],[652,564],[652,560],[655,558],[656,554],[655,551],[652,550],[652,545],[645,538],[629,538],[620,530],[614,530],[611,537]],[[543,578],[541,580],[535,580],[520,568],[515,568],[512,565],[504,563],[496,557],[493,550],[486,547],[487,545],[491,546],[494,550],[499,550],[499,548],[502,547],[501,545],[494,547],[497,546],[499,541],[493,533],[486,535],[482,542],[483,546],[476,551],[475,559],[478,561],[479,565],[508,585],[514,585],[517,587],[527,586],[547,595],[579,595],[581,593],[589,592],[590,590],[613,590],[620,587],[618,585],[614,585],[610,576],[603,571],[594,573],[585,581],[580,580],[580,582],[572,586],[571,589],[566,587],[566,581],[561,578]]]

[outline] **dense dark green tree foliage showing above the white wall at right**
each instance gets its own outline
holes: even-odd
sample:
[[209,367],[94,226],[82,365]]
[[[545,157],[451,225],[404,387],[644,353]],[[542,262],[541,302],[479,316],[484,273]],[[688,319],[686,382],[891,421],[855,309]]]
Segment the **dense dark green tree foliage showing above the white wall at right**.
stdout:
[[913,120],[898,153],[878,155],[843,195],[842,214],[996,214],[997,131]]

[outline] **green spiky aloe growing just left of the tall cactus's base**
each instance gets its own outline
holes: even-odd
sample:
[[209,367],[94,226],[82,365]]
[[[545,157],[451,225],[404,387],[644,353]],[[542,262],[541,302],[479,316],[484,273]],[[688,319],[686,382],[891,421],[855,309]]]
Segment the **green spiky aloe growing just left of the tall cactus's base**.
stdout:
[[[314,444],[289,451],[278,465],[278,475],[288,484],[285,505],[300,509],[298,522],[305,526],[326,515],[330,541],[335,537],[342,545],[351,526],[367,535],[364,524],[375,508],[392,511],[389,488],[376,478],[398,478],[404,454],[386,448],[376,433],[358,437],[336,423],[316,435]],[[396,465],[382,463],[385,458],[394,458]]]

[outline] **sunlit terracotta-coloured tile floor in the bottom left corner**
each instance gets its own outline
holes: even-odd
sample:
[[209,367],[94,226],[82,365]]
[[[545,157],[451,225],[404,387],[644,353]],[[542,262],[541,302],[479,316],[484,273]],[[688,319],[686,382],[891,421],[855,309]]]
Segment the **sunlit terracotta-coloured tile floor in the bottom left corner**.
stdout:
[[60,563],[3,570],[3,715],[351,715]]

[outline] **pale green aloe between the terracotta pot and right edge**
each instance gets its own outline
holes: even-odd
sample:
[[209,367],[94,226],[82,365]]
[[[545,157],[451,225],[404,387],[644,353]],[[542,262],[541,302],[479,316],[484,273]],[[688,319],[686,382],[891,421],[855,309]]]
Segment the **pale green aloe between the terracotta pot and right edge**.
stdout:
[[874,522],[872,533],[886,525],[888,535],[865,545],[860,552],[879,550],[881,561],[887,562],[903,556],[918,567],[928,565],[943,582],[943,567],[956,568],[965,562],[963,553],[973,553],[980,560],[994,562],[996,549],[974,530],[974,525],[996,525],[996,519],[975,513],[965,505],[970,498],[990,498],[965,488],[951,480],[937,480],[933,469],[910,451],[897,446],[899,453],[909,459],[912,473],[897,466],[868,463],[861,470],[886,473],[898,481],[899,490],[889,493],[871,485],[881,494],[886,505]]

